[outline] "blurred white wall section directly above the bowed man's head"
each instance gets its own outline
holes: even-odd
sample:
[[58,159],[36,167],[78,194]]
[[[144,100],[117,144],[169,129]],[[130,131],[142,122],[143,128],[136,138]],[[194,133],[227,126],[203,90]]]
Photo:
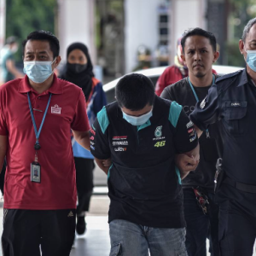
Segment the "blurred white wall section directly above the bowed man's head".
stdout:
[[137,47],[154,52],[158,44],[158,13],[161,0],[125,0],[125,73],[137,66]]

